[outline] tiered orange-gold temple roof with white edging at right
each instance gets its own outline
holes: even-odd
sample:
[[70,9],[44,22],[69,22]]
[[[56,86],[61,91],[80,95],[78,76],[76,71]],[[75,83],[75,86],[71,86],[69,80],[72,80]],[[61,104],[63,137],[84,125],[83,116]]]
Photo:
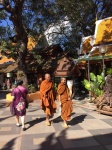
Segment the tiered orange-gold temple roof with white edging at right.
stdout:
[[93,47],[96,47],[95,51],[91,53],[91,56],[101,55],[98,46],[102,44],[107,45],[105,56],[112,55],[112,17],[96,21],[95,34],[82,38],[82,54],[88,54],[91,51],[91,38],[94,39]]

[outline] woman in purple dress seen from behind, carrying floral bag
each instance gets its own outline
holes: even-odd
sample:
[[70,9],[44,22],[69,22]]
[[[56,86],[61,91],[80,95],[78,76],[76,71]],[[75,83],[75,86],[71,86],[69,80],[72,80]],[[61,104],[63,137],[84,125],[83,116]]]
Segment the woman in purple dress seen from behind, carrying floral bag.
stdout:
[[[25,128],[26,105],[23,103],[22,98],[26,99],[28,90],[23,86],[22,80],[17,80],[16,85],[17,86],[13,89],[12,94],[11,94],[12,98],[13,98],[13,106],[14,106],[14,110],[15,110],[16,126],[17,127],[20,126],[19,117],[21,117],[22,129],[23,129],[23,131],[25,131],[26,130],[26,128]],[[24,105],[22,105],[22,104],[24,104]],[[22,107],[20,107],[20,106],[22,106]]]

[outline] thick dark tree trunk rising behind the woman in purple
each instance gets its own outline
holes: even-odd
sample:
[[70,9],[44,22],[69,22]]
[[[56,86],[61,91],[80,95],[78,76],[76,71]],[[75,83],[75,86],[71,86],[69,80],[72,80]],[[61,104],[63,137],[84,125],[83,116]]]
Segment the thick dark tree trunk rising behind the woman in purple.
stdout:
[[26,67],[26,57],[27,57],[27,43],[28,43],[28,34],[24,28],[22,21],[22,10],[23,10],[23,1],[14,1],[15,7],[10,9],[10,20],[13,22],[15,28],[16,43],[18,43],[18,72],[17,79],[22,79],[24,85],[27,87],[27,67]]

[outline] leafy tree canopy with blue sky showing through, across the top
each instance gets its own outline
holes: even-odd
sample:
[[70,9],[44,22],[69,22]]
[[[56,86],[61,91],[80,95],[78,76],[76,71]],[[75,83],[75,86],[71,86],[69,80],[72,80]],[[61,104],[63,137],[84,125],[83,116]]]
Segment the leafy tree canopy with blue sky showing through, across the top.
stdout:
[[28,36],[44,46],[45,31],[54,27],[48,37],[76,52],[82,35],[93,35],[95,21],[112,16],[111,10],[111,0],[0,0],[0,49],[26,76]]

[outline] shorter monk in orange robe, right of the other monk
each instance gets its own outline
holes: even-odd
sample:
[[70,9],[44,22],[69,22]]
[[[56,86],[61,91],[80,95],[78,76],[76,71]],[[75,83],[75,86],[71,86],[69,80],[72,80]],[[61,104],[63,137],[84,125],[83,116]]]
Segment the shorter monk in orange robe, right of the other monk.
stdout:
[[69,89],[66,85],[66,78],[61,78],[61,83],[58,85],[58,99],[61,105],[61,118],[64,121],[64,127],[68,127],[67,121],[70,120],[72,113],[72,100]]

